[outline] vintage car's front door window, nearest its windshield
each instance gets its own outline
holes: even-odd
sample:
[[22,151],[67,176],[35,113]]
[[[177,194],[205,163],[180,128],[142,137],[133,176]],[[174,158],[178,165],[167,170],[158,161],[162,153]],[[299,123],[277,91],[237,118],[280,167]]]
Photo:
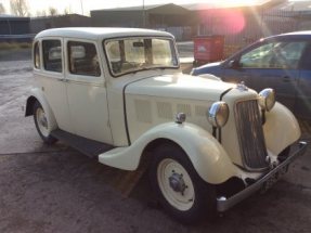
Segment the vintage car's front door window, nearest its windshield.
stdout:
[[70,74],[101,76],[99,56],[93,43],[69,41],[67,47]]

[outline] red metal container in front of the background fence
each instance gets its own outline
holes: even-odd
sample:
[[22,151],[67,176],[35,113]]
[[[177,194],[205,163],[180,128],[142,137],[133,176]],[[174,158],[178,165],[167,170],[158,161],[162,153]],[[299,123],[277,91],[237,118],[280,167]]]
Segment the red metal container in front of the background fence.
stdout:
[[194,65],[223,59],[223,36],[198,36],[194,41]]

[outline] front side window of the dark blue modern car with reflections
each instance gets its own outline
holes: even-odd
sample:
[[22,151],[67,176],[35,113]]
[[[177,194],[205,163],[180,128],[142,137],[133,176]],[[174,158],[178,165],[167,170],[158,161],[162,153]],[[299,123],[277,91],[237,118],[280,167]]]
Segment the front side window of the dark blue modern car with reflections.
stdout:
[[306,46],[302,41],[268,43],[241,56],[241,63],[245,68],[296,69]]

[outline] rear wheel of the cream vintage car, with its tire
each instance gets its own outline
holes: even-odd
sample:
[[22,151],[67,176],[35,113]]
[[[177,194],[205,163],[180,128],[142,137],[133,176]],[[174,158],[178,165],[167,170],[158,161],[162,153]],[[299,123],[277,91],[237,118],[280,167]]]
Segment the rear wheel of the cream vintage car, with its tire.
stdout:
[[38,101],[34,104],[34,120],[36,129],[46,144],[51,145],[57,141],[51,135],[51,129],[49,128],[46,112]]

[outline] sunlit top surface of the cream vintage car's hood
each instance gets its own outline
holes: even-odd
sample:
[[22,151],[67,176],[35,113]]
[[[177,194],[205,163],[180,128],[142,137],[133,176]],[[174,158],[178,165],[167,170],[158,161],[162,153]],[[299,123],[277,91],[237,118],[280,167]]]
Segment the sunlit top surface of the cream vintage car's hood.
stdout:
[[232,83],[215,80],[215,77],[195,77],[183,74],[155,76],[130,83],[126,94],[161,96],[187,100],[217,101]]

